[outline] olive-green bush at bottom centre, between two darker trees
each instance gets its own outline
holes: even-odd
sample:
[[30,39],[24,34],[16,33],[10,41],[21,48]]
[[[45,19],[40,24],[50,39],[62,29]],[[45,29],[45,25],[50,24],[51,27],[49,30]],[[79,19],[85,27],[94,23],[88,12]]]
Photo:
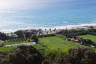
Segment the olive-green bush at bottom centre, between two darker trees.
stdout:
[[51,51],[49,52],[43,60],[43,64],[64,64],[65,53],[62,51]]

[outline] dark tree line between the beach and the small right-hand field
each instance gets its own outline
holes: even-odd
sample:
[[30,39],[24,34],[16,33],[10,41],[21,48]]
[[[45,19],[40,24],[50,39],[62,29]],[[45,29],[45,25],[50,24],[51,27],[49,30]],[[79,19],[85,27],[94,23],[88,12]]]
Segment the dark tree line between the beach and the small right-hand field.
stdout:
[[61,30],[57,34],[62,34],[64,36],[79,36],[86,34],[96,34],[96,29],[70,29],[70,30]]

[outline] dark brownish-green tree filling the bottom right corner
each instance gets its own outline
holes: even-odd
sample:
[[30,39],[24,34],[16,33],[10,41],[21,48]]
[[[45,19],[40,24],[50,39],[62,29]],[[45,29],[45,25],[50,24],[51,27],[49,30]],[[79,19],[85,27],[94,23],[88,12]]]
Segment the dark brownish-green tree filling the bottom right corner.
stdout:
[[96,53],[88,48],[71,49],[65,59],[70,64],[96,64]]

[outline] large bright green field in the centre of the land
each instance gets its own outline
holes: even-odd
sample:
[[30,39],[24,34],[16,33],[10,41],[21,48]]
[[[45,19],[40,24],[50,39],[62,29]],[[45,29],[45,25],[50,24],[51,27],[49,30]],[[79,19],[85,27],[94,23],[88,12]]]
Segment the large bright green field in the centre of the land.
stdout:
[[51,50],[62,50],[64,52],[67,52],[71,48],[84,48],[87,46],[80,45],[75,42],[67,41],[65,38],[62,38],[60,36],[53,36],[53,37],[44,37],[39,39],[40,42],[45,44],[48,49]]

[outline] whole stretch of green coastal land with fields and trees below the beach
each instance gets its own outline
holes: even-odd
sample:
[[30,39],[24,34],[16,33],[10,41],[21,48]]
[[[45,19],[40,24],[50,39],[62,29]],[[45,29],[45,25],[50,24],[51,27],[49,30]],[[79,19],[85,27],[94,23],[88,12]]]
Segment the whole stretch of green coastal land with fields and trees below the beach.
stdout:
[[[45,35],[41,35],[42,30],[20,30],[15,32],[18,37],[0,34],[3,34],[0,39],[4,40],[4,46],[0,47],[0,64],[96,64],[96,48],[91,47],[96,42],[96,30],[93,28]],[[23,42],[37,44],[5,47]]]

